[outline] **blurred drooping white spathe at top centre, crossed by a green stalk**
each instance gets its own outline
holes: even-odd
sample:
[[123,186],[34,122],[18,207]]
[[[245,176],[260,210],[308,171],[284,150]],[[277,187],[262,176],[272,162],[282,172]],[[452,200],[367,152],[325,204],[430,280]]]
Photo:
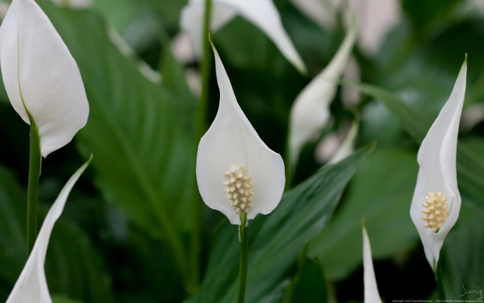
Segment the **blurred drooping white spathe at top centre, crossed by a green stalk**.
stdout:
[[[183,7],[180,18],[180,27],[192,37],[198,56],[203,53],[204,13],[205,0],[190,0]],[[210,31],[218,31],[238,15],[264,32],[297,70],[306,72],[301,56],[284,30],[281,16],[272,0],[212,0]]]

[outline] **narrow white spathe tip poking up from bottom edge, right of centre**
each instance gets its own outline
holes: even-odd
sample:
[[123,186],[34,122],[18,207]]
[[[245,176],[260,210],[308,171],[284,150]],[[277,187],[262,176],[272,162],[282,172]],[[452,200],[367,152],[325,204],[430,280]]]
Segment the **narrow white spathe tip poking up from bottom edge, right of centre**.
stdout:
[[364,303],[381,303],[378,293],[377,279],[373,269],[373,258],[371,256],[370,239],[364,223],[363,230],[363,284],[364,284]]

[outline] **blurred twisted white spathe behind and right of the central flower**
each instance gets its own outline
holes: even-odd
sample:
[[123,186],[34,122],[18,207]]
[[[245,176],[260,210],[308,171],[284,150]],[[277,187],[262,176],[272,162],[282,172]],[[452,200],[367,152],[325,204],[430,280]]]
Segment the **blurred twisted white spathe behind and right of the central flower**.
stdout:
[[318,138],[330,119],[330,105],[356,40],[353,16],[345,39],[331,62],[296,97],[289,114],[290,165],[296,165],[304,144]]

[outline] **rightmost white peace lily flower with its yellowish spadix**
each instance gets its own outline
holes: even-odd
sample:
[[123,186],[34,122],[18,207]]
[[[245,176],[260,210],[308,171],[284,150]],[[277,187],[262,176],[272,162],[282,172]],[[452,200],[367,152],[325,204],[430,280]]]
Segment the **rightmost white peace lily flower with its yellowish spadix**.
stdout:
[[466,93],[467,55],[449,100],[420,145],[420,165],[410,216],[422,239],[427,261],[434,271],[444,239],[459,216],[455,156],[457,133]]

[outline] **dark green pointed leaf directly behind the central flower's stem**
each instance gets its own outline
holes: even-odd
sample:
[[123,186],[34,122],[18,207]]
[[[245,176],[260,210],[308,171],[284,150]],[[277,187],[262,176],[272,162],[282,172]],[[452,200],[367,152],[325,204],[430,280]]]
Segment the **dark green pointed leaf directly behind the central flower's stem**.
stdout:
[[[298,252],[328,222],[366,147],[319,170],[284,194],[268,216],[249,221],[247,303],[280,302]],[[239,245],[237,226],[225,222],[217,231],[209,268],[200,291],[188,302],[234,302]]]

